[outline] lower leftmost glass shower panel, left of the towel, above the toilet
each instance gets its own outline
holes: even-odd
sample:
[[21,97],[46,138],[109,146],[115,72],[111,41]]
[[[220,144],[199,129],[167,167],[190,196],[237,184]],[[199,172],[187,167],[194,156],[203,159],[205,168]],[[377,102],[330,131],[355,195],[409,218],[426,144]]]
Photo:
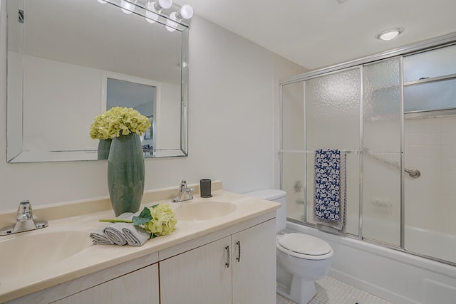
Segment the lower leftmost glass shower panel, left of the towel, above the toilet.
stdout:
[[296,221],[305,219],[305,159],[304,153],[282,154],[281,189],[286,192],[286,216]]

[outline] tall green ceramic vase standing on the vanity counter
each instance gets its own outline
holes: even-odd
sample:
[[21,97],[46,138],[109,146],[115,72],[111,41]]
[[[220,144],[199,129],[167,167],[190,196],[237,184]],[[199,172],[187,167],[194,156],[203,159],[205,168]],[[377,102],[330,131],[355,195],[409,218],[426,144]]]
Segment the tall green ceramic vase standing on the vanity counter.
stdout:
[[140,209],[144,157],[136,133],[113,138],[108,157],[108,189],[115,216]]

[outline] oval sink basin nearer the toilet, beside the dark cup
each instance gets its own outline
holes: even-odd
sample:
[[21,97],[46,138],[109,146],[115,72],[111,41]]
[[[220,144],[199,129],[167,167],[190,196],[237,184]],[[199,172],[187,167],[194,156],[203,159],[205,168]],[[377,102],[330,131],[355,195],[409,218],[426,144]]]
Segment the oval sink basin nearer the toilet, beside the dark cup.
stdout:
[[236,209],[236,205],[227,201],[191,201],[182,202],[175,209],[177,221],[205,221],[226,216]]

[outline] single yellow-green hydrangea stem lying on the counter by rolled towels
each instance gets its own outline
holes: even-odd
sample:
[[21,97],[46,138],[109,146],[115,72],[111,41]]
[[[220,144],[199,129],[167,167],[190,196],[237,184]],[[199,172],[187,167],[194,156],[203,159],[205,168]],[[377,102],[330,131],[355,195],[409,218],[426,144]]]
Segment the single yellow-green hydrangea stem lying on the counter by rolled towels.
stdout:
[[175,230],[177,219],[174,211],[167,204],[156,204],[142,209],[139,216],[128,219],[100,219],[110,223],[133,223],[150,233],[150,239],[165,236]]

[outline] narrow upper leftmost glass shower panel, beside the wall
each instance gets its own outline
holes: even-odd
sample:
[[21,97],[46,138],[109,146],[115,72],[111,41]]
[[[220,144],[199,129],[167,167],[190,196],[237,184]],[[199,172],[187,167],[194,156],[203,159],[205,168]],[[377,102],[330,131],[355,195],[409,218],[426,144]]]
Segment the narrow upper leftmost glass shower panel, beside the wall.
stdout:
[[304,83],[282,86],[282,148],[304,150]]

